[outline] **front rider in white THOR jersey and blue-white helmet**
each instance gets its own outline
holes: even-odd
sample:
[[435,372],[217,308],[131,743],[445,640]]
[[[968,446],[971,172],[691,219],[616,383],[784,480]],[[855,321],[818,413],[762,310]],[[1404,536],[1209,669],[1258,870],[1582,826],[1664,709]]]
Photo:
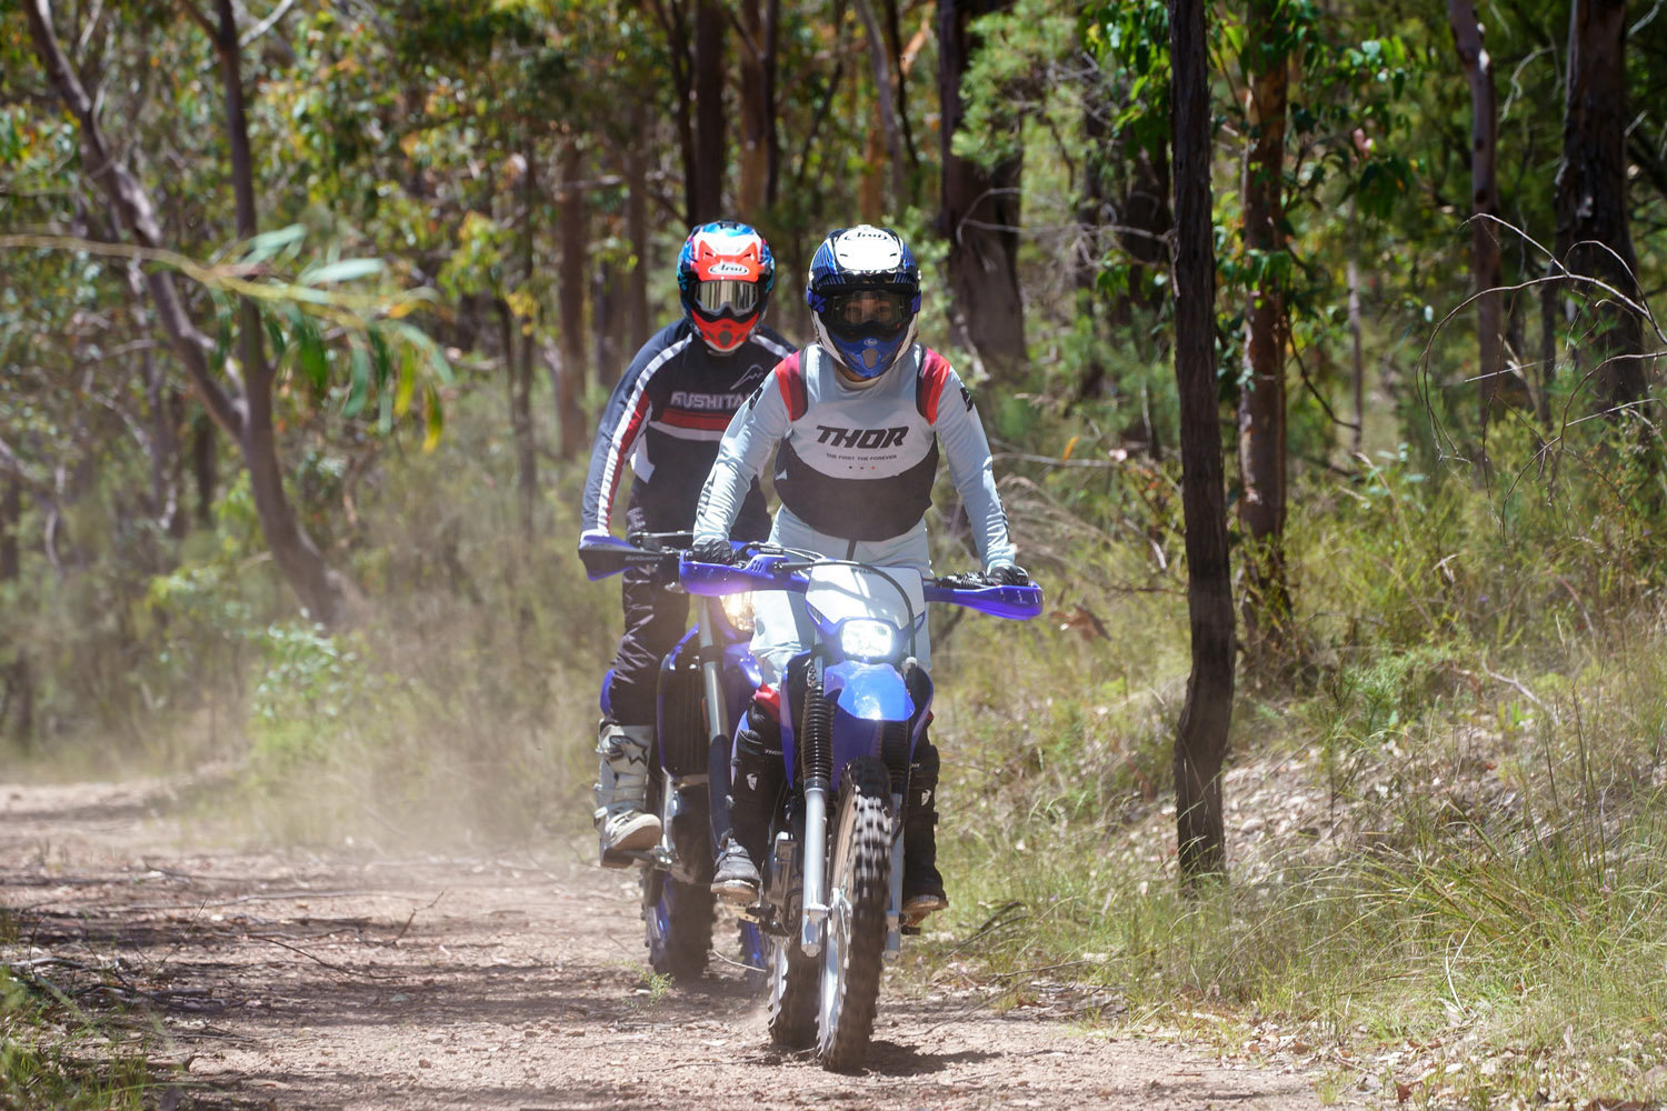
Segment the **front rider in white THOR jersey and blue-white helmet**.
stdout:
[[[972,395],[937,351],[915,341],[920,268],[890,228],[860,225],[827,237],[810,262],[805,303],[817,341],[783,358],[730,421],[700,495],[695,558],[730,561],[728,535],[747,490],[775,456],[782,508],[770,541],[842,560],[914,566],[930,575],[925,511],[932,505],[939,445],[967,506],[985,575],[1029,583],[1014,561],[1007,515],[995,491],[990,445]],[[727,899],[758,898],[772,810],[785,786],[782,686],[788,661],[813,628],[803,598],[757,598],[752,651],[765,686],[735,735],[730,831],[712,889]],[[922,630],[917,661],[930,668]],[[922,731],[904,808],[904,913],[949,906],[937,869],[939,753]]]

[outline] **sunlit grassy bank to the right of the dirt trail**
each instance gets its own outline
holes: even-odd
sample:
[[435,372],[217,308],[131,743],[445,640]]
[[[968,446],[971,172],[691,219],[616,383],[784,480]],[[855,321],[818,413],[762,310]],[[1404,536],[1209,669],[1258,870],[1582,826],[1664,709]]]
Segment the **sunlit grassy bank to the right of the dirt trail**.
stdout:
[[1304,476],[1299,658],[1240,683],[1230,874],[1190,898],[1184,571],[1114,535],[1115,498],[1070,528],[1015,498],[1057,555],[1047,621],[935,650],[939,958],[1112,991],[1120,1021],[1212,1013],[1224,1049],[1302,1046],[1419,1106],[1667,1096],[1659,521],[1649,475],[1592,451],[1554,476],[1500,435],[1485,481],[1409,451]]

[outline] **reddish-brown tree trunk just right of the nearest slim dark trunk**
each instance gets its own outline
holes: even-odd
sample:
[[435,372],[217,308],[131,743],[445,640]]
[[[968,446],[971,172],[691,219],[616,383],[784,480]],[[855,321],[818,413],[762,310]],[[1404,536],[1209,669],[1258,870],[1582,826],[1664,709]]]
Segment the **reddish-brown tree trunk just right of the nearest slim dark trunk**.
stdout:
[[1239,526],[1245,541],[1245,640],[1257,660],[1284,645],[1285,583],[1285,93],[1289,28],[1282,0],[1250,0],[1245,28],[1250,145],[1245,152],[1244,238],[1267,267],[1245,306],[1239,393]]

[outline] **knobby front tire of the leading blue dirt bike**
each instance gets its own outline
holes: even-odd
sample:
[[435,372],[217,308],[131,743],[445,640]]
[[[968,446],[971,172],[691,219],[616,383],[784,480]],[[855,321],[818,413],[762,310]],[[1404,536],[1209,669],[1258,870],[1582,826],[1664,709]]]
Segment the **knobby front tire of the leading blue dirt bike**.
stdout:
[[885,958],[892,863],[892,786],[879,760],[854,760],[840,780],[828,861],[828,924],[822,944],[817,1061],[834,1073],[862,1068],[874,1036]]

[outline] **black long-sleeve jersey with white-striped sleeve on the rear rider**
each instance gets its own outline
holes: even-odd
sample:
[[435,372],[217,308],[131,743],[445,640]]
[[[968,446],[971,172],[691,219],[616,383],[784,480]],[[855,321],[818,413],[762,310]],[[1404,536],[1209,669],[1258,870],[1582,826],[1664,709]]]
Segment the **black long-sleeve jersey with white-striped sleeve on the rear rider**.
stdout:
[[[643,343],[602,411],[585,480],[585,531],[608,531],[627,465],[637,475],[630,501],[648,528],[693,528],[723,430],[792,353],[787,340],[760,326],[730,355],[713,355],[687,318]],[[762,510],[762,498],[755,481],[748,500]]]

